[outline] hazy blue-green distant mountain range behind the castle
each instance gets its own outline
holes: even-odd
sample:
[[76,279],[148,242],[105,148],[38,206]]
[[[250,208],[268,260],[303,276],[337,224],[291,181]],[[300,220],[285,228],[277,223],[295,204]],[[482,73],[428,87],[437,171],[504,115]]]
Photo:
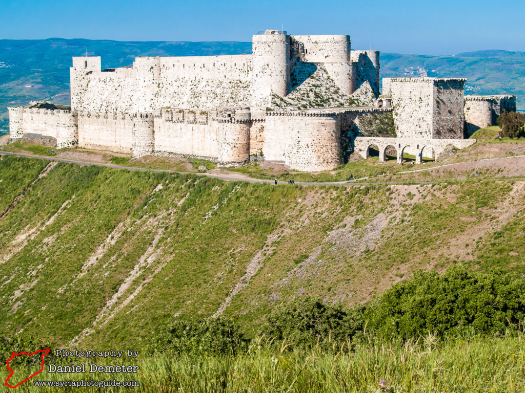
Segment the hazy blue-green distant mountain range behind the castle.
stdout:
[[[251,53],[251,42],[110,41],[49,38],[0,40],[0,134],[7,106],[29,100],[69,103],[72,56],[102,57],[102,68],[131,65],[137,56],[206,56]],[[468,78],[467,94],[516,94],[525,109],[525,52],[484,50],[451,56],[381,53],[381,77]]]

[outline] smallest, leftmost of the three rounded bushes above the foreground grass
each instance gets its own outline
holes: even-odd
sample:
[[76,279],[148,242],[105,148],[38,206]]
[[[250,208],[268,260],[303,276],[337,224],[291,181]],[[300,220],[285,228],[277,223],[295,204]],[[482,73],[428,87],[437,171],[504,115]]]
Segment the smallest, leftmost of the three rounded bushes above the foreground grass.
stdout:
[[247,346],[239,325],[224,316],[176,320],[161,326],[153,351],[177,355],[235,355]]

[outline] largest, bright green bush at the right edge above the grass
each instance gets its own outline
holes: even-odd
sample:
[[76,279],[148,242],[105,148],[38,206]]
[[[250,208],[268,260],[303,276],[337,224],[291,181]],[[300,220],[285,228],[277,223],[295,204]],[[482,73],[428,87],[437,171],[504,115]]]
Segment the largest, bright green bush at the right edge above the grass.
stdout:
[[417,272],[396,283],[365,311],[369,329],[386,339],[428,332],[443,335],[504,333],[525,317],[525,282],[500,271],[453,266],[439,275]]

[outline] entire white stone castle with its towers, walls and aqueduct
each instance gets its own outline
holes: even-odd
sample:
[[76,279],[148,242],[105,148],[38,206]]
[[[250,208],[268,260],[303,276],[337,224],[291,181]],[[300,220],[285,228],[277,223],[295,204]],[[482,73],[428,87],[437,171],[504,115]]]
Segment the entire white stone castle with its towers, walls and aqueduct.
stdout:
[[398,160],[404,151],[422,157],[426,146],[437,157],[472,143],[464,129],[516,110],[514,96],[465,98],[465,79],[384,78],[380,95],[379,51],[351,50],[346,35],[266,30],[253,36],[252,52],[138,57],[132,67],[104,70],[100,57],[74,57],[71,106],[10,107],[10,137],[320,171],[352,151],[367,157],[372,145],[380,160],[388,146]]

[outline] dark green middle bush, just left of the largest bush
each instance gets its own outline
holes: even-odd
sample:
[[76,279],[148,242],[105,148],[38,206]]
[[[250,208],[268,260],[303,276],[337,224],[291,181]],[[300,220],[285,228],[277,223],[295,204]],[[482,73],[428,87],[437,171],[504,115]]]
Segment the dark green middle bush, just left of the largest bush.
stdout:
[[362,326],[361,309],[347,312],[340,305],[303,298],[277,305],[259,333],[277,341],[286,339],[287,343],[295,345],[316,345],[318,340],[326,345],[332,340],[349,339],[361,331]]

